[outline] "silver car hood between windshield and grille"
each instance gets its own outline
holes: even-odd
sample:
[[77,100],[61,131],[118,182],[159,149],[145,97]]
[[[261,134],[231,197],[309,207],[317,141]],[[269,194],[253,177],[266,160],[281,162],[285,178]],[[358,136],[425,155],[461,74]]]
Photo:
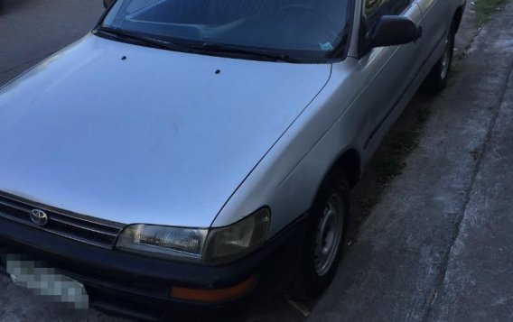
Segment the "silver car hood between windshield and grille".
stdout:
[[0,91],[0,191],[125,224],[210,226],[330,73],[88,35]]

